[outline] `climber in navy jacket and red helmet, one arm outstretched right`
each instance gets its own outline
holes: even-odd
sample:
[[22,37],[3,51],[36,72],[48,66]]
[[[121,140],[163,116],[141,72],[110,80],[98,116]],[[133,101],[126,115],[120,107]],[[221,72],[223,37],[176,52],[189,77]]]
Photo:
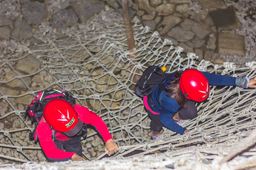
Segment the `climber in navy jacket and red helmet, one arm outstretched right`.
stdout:
[[[197,116],[196,105],[193,101],[204,101],[209,96],[209,85],[239,86],[242,88],[256,88],[256,77],[230,77],[219,74],[201,72],[188,69],[183,72],[171,73],[164,84],[165,91],[157,86],[143,101],[146,112],[151,117],[150,127],[152,139],[160,135],[162,127],[185,134],[189,130],[181,127],[184,119],[193,119]],[[152,103],[153,102],[153,103]]]

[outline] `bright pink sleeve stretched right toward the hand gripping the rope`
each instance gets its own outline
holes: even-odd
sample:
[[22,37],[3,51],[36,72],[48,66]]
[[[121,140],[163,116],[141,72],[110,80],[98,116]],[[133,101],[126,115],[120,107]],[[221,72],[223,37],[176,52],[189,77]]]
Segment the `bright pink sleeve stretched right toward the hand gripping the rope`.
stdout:
[[104,123],[101,117],[90,111],[87,107],[76,104],[75,108],[81,121],[85,124],[91,124],[92,126],[94,126],[99,134],[102,135],[105,142],[113,139],[107,129],[107,125]]

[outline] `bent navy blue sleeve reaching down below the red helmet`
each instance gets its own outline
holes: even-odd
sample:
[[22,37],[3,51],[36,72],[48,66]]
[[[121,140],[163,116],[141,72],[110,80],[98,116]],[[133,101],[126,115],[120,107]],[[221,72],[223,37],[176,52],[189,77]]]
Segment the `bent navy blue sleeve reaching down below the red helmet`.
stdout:
[[174,114],[178,112],[178,103],[175,101],[175,99],[165,96],[165,94],[163,94],[161,101],[162,107],[160,110],[160,121],[165,127],[173,132],[183,134],[186,129],[172,119]]

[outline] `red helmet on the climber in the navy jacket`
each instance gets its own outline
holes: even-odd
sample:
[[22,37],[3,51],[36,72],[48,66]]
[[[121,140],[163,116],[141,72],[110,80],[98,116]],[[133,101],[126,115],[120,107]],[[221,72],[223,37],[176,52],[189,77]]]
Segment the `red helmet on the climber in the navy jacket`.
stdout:
[[189,100],[203,101],[209,96],[209,82],[200,71],[188,69],[180,76],[180,90]]

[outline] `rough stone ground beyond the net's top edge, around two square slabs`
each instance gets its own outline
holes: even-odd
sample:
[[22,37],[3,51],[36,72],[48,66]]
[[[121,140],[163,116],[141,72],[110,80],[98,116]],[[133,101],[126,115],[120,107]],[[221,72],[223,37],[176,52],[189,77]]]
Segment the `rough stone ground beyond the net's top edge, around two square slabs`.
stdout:
[[[201,0],[203,2],[203,0]],[[216,9],[202,8],[199,0],[128,0],[131,18],[137,17],[144,26],[158,31],[172,40],[184,52],[194,52],[199,61],[245,63],[255,57],[255,0],[225,0]],[[211,0],[209,0],[211,1]],[[68,31],[82,32],[97,29],[89,19],[101,14],[100,24],[121,22],[120,0],[2,0],[0,2],[0,30],[27,43],[44,42],[61,37]],[[217,28],[209,15],[210,10],[233,8],[242,27],[225,30],[245,36],[246,55],[222,55],[217,50]],[[108,15],[107,11],[115,11]],[[114,23],[110,22],[110,17]],[[112,19],[113,20],[113,19]],[[85,24],[86,23],[86,24]],[[1,57],[10,36],[0,33]],[[13,45],[8,45],[13,46]]]

